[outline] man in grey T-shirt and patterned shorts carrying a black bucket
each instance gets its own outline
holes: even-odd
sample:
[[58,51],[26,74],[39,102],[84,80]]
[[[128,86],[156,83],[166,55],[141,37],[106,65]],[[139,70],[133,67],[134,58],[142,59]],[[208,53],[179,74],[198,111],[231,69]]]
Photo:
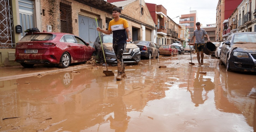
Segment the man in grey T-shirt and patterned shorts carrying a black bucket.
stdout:
[[[196,53],[197,53],[197,61],[198,61],[198,66],[203,65],[203,48],[204,48],[204,35],[207,37],[208,42],[210,42],[210,38],[207,35],[207,32],[200,28],[201,24],[200,22],[196,23],[196,30],[194,30],[194,35],[191,38],[190,42],[196,37]],[[201,54],[201,61],[200,61],[200,54]]]

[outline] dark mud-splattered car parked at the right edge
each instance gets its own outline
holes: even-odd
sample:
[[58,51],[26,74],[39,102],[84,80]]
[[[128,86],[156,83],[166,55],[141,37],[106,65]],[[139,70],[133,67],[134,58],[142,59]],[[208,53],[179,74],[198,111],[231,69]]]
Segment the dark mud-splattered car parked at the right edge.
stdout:
[[229,35],[220,50],[220,63],[228,71],[256,72],[256,32]]

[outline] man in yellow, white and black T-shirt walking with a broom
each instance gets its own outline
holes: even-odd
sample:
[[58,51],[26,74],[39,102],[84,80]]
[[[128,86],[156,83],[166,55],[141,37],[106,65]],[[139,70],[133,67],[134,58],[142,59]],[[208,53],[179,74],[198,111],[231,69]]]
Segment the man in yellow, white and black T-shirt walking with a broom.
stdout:
[[[117,58],[116,80],[122,80],[122,78],[126,77],[123,63],[123,52],[126,47],[126,43],[132,40],[128,22],[125,19],[120,18],[120,14],[121,8],[114,7],[112,10],[112,16],[114,19],[109,22],[109,29],[102,30],[100,27],[97,27],[98,31],[107,35],[110,35],[113,31],[113,48]],[[128,39],[126,33],[128,35]]]

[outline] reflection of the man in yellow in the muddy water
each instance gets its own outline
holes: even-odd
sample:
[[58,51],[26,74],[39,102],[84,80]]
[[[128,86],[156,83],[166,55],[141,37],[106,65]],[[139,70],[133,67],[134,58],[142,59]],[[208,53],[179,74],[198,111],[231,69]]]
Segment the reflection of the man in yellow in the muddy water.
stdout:
[[114,118],[110,116],[107,120],[110,120],[110,128],[115,129],[115,132],[125,132],[130,120],[130,116],[127,116],[126,106],[123,102],[124,95],[124,81],[118,81],[118,96],[112,99],[112,110],[114,111]]

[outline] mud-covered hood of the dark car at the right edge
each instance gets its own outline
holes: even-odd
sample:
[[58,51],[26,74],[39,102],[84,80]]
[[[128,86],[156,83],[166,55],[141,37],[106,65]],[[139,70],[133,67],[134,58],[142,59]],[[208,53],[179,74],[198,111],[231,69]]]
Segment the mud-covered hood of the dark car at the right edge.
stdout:
[[237,47],[235,50],[239,52],[256,52],[256,44],[233,44],[231,47]]

